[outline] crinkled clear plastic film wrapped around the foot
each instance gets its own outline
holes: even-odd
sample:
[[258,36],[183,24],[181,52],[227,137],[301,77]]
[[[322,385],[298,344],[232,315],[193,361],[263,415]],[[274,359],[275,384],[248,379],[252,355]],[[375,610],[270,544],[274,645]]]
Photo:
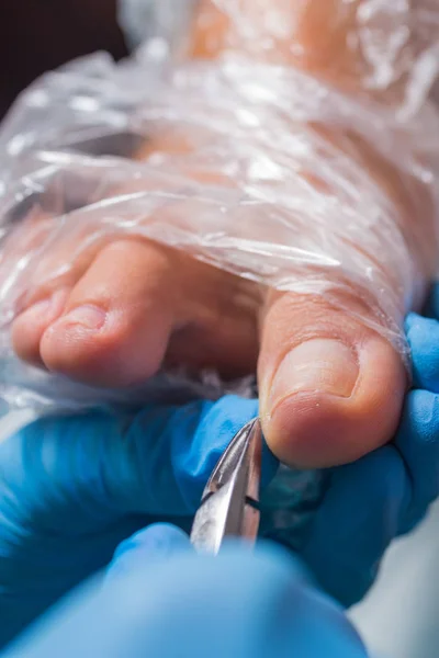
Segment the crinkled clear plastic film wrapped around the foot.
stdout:
[[[11,325],[35,291],[124,235],[263,290],[325,295],[406,355],[402,321],[438,256],[437,0],[189,2],[183,31],[173,3],[149,5],[159,33],[149,25],[131,59],[44,76],[2,126],[1,396],[101,399],[22,365]],[[212,41],[218,12],[227,29]]]

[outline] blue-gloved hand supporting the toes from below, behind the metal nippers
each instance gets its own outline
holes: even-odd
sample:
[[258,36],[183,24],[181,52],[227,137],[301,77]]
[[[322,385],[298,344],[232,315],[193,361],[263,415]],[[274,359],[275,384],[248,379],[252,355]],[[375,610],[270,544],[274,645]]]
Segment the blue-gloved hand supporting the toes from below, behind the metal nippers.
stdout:
[[[407,327],[417,388],[395,442],[329,473],[301,549],[345,604],[363,595],[389,543],[439,492],[439,324],[412,316]],[[219,453],[256,412],[255,401],[226,397],[133,419],[42,419],[0,444],[0,642],[154,517],[192,514]],[[266,466],[268,480],[275,464]]]

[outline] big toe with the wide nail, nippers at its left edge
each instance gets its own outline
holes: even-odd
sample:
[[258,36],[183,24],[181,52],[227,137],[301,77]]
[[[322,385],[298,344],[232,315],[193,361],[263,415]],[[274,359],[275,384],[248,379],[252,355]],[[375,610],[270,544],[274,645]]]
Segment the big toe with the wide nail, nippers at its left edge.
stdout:
[[300,467],[351,462],[386,443],[407,385],[384,337],[349,310],[295,294],[268,306],[258,375],[267,441]]

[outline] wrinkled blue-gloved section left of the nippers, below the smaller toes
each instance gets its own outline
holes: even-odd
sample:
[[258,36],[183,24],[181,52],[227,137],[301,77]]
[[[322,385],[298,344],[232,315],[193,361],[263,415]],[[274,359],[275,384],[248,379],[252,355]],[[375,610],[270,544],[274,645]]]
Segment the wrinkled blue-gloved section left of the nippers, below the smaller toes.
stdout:
[[[257,402],[224,397],[133,418],[43,418],[0,443],[0,648],[155,520],[189,530]],[[267,453],[263,477],[278,467]]]

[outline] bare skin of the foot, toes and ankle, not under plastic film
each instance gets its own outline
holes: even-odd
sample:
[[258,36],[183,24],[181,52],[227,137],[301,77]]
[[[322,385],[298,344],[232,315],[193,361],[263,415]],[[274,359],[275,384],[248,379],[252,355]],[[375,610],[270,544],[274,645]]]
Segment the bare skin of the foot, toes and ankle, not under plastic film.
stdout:
[[[263,12],[258,14],[262,4],[237,3],[256,24],[263,19]],[[282,12],[285,2],[270,4]],[[303,46],[301,57],[292,55],[291,34],[279,38],[267,55],[258,50],[258,56],[330,77],[347,93],[360,87],[365,63],[347,60],[345,52],[359,3],[349,3],[333,31],[319,0],[306,3],[306,11],[300,11],[302,4],[289,2],[297,9],[294,38]],[[324,4],[338,11],[345,3]],[[251,53],[254,42],[235,34],[236,25],[215,3],[202,2],[190,56],[215,59],[227,48]],[[323,63],[328,58],[333,66],[326,69]],[[390,98],[397,93],[395,83]],[[137,158],[185,148],[184,140],[158,136]],[[416,230],[432,231],[431,213],[426,211],[424,225],[415,229],[404,181],[369,147],[359,148],[364,166],[397,208],[402,232],[412,235],[418,249]],[[194,173],[196,180],[202,175]],[[49,224],[50,217],[34,213],[12,236],[5,258],[13,261],[24,248],[38,243]],[[38,274],[61,266],[72,247],[71,237],[58,240],[54,252],[38,263]],[[426,265],[425,282],[428,275]],[[326,467],[351,462],[387,442],[407,387],[399,354],[350,313],[360,305],[360,293],[346,298],[342,309],[319,295],[266,288],[153,241],[113,236],[85,250],[55,281],[30,286],[12,338],[26,362],[99,386],[140,383],[164,364],[214,367],[224,377],[257,371],[261,419],[272,451],[294,466]],[[363,318],[368,313],[361,308]]]

